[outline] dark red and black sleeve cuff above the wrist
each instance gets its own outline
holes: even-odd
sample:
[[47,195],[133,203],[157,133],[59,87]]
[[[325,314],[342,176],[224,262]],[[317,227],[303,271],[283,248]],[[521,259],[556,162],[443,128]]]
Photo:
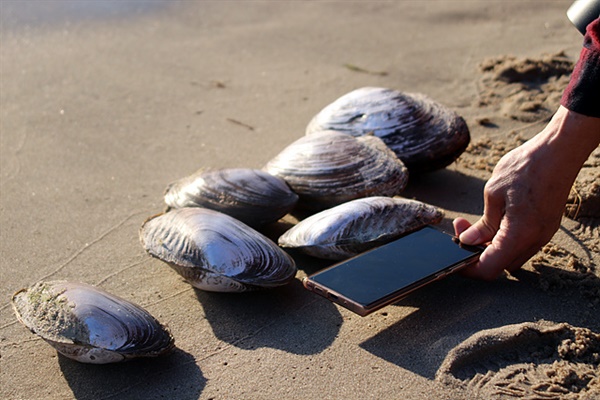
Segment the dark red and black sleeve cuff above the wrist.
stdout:
[[600,118],[600,18],[587,26],[583,48],[560,104]]

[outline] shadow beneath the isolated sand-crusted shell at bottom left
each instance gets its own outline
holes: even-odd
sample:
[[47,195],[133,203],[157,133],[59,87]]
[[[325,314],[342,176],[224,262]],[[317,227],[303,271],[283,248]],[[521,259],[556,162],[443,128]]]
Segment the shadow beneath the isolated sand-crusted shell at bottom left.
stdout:
[[194,357],[180,349],[156,359],[82,364],[58,355],[60,369],[76,399],[198,399],[206,378]]

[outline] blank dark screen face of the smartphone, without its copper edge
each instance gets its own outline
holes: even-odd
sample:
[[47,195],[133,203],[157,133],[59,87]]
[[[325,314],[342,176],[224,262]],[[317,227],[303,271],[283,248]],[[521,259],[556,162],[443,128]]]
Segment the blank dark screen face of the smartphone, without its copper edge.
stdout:
[[310,280],[368,307],[480,251],[462,247],[452,236],[427,226],[318,272]]

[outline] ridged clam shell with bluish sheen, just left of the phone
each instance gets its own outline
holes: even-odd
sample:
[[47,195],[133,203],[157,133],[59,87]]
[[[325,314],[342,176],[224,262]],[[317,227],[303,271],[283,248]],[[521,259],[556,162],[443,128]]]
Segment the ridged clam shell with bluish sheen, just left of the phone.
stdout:
[[270,288],[296,275],[294,260],[273,241],[207,208],[180,208],[152,217],[142,226],[140,240],[150,255],[203,290]]

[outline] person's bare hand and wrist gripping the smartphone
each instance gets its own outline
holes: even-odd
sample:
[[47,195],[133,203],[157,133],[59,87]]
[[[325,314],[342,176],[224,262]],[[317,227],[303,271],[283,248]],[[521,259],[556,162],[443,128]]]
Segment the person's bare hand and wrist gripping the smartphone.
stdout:
[[483,216],[453,221],[465,244],[488,244],[464,273],[492,280],[515,271],[560,227],[573,182],[600,142],[600,119],[560,107],[550,123],[496,165],[484,188]]

